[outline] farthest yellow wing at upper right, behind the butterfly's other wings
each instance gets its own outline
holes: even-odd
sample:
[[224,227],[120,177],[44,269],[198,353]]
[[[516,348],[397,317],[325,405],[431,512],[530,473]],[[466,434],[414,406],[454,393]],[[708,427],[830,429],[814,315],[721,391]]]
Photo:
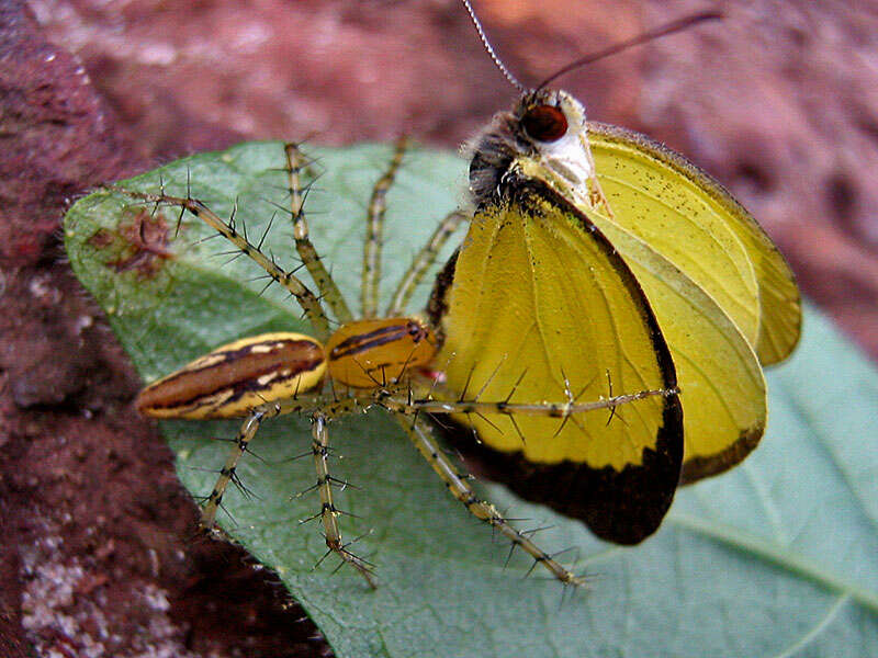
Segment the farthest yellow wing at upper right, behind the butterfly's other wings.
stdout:
[[644,135],[589,123],[588,141],[619,226],[713,297],[763,365],[786,359],[801,332],[799,288],[750,213],[709,174]]

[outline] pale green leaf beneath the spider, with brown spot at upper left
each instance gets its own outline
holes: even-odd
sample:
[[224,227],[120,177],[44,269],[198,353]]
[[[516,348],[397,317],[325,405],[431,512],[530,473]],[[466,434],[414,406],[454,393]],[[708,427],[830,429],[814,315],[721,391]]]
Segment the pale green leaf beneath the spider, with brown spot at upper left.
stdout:
[[[312,149],[323,174],[307,198],[312,238],[357,302],[364,212],[391,149]],[[238,197],[238,227],[254,241],[277,213],[264,249],[295,265],[283,206],[282,145],[246,144],[181,160],[125,181],[130,190],[192,194],[221,216]],[[317,171],[315,171],[316,173]],[[453,209],[465,164],[446,154],[406,157],[387,197],[382,294],[390,298],[412,254]],[[306,329],[279,288],[259,296],[260,272],[192,217],[101,191],[66,220],[70,261],[106,310],[146,381],[245,334]],[[167,238],[167,243],[157,240]],[[144,243],[146,238],[146,243]],[[454,240],[452,240],[454,241]],[[457,238],[460,241],[460,238]],[[447,250],[448,251],[448,250]],[[443,254],[443,258],[447,253]],[[221,266],[222,265],[222,266]],[[414,308],[423,307],[425,284]],[[354,304],[354,306],[357,306]],[[527,519],[549,551],[594,575],[587,592],[563,592],[454,502],[380,410],[330,424],[346,537],[376,565],[370,591],[352,569],[333,575],[320,529],[306,419],[267,423],[239,470],[221,522],[275,569],[340,657],[353,656],[875,656],[878,655],[878,374],[817,311],[802,344],[769,375],[772,418],[759,449],[732,472],[682,490],[656,535],[632,548],[600,543],[575,521],[515,498],[484,494]],[[237,423],[166,422],[180,479],[210,491]]]

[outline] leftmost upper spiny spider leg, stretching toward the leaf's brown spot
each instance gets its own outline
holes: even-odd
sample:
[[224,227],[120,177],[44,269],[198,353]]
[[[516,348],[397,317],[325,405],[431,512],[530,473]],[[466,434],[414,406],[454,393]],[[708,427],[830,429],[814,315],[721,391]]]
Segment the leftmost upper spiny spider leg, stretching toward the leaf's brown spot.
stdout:
[[149,203],[177,206],[181,208],[181,211],[189,211],[192,213],[195,217],[200,218],[207,226],[235,245],[235,247],[249,257],[250,260],[262,268],[272,280],[285,287],[290,294],[295,297],[300,306],[302,306],[302,309],[305,311],[305,317],[307,317],[318,339],[326,340],[329,336],[329,320],[320,306],[319,299],[314,293],[312,293],[297,276],[292,272],[286,272],[281,269],[273,260],[269,259],[260,251],[256,245],[252,245],[246,239],[233,225],[221,219],[213,211],[204,205],[204,203],[198,198],[182,198],[179,196],[170,196],[165,193],[148,194],[146,192],[137,192],[121,188],[113,189],[128,196],[134,196],[135,198],[140,198]]

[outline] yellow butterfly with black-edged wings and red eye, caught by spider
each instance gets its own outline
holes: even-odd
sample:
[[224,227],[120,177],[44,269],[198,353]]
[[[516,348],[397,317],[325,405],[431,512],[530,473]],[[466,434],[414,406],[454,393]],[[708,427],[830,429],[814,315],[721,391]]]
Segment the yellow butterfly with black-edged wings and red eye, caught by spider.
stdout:
[[472,151],[475,213],[430,304],[447,387],[510,402],[680,395],[609,418],[457,420],[495,479],[640,542],[679,483],[731,468],[763,435],[762,366],[799,339],[792,273],[717,181],[643,135],[586,122],[564,91],[526,91]]

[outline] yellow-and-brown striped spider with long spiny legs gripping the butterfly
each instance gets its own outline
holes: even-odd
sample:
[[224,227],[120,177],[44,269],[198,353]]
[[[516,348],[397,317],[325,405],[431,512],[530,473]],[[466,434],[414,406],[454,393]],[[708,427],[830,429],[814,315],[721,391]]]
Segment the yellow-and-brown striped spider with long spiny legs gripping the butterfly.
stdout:
[[[404,309],[441,248],[466,219],[464,213],[451,213],[439,222],[398,282],[390,305],[379,313],[385,197],[406,148],[406,141],[399,140],[368,204],[359,316],[351,311],[309,239],[304,213],[308,186],[303,184],[303,169],[309,161],[297,145],[286,144],[284,147],[284,171],[290,197],[290,207],[285,211],[292,220],[296,251],[314,280],[318,294],[309,290],[294,272],[282,269],[273,257],[263,252],[264,236],[255,243],[245,230],[239,230],[234,213],[229,219],[223,219],[189,193],[185,196],[167,194],[164,184],[158,194],[114,189],[156,208],[178,208],[178,228],[187,213],[204,222],[233,246],[236,254],[246,256],[262,269],[269,284],[283,286],[302,307],[313,329],[311,334],[263,333],[222,345],[147,386],[137,398],[137,409],[145,416],[157,418],[243,419],[232,450],[202,509],[201,525],[207,531],[215,527],[223,496],[228,484],[236,481],[238,463],[261,423],[284,413],[306,415],[311,419],[311,452],[317,475],[313,489],[318,492],[320,500],[315,518],[322,520],[326,555],[337,555],[342,564],[350,565],[374,588],[376,578],[373,565],[356,555],[349,544],[342,541],[339,527],[341,512],[335,506],[333,492],[333,486],[341,483],[329,473],[328,426],[341,415],[381,407],[398,421],[451,495],[475,518],[496,529],[511,541],[514,547],[522,548],[561,582],[582,586],[585,583],[584,577],[558,563],[528,533],[516,530],[507,522],[495,506],[476,496],[469,484],[470,476],[461,474],[440,447],[427,416],[457,415],[466,418],[470,415],[484,417],[485,413],[499,413],[513,421],[519,415],[542,416],[556,418],[563,424],[571,419],[575,422],[581,413],[598,409],[609,410],[612,419],[620,405],[676,392],[639,390],[582,401],[584,390],[571,390],[566,377],[563,399],[558,401],[513,402],[510,399],[515,387],[500,400],[484,400],[477,392],[448,390],[442,383],[442,364],[436,363],[442,340],[441,329],[431,326],[424,315],[405,315]],[[334,327],[327,309],[336,318],[337,326]],[[522,378],[525,376],[522,373]]]

